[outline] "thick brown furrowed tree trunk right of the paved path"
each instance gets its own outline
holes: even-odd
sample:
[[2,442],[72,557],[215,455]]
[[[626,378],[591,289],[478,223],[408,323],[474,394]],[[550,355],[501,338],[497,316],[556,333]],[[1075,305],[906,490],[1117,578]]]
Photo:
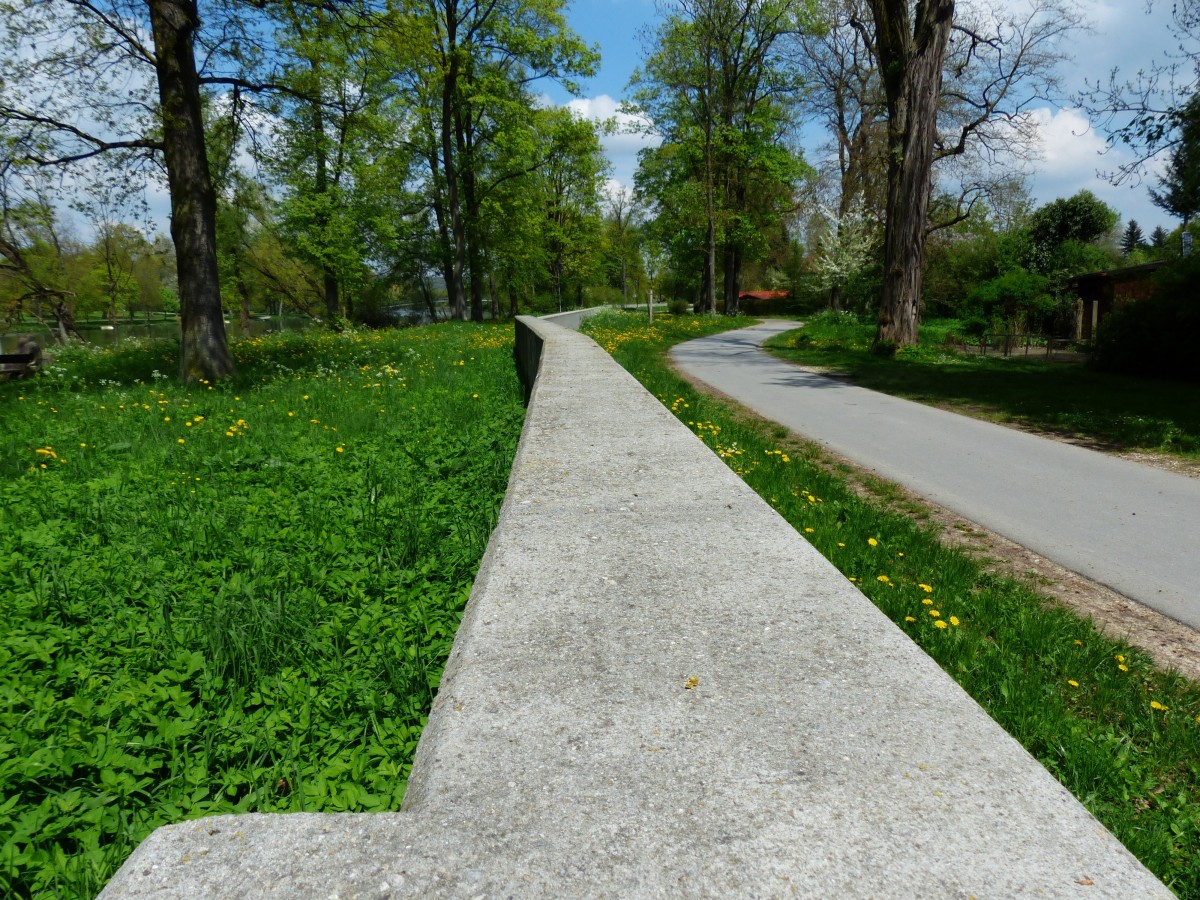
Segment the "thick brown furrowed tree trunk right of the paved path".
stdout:
[[888,102],[888,203],[883,229],[883,299],[876,342],[917,343],[925,262],[934,138],[942,64],[954,0],[871,0],[876,54]]

